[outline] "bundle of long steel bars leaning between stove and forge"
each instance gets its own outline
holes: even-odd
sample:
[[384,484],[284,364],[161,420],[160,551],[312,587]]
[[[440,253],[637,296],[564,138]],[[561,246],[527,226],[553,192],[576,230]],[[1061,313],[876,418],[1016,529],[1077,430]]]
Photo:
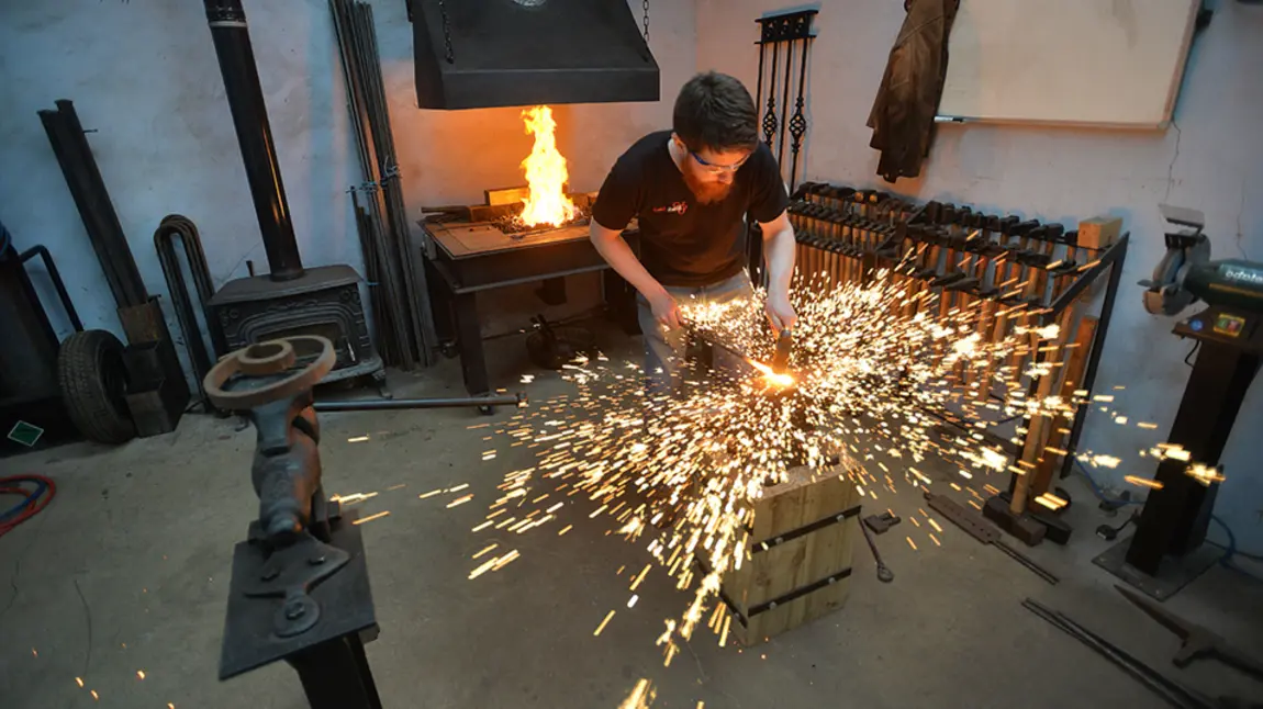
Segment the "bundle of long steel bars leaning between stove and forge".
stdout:
[[373,8],[355,0],[330,0],[346,77],[347,107],[364,169],[364,183],[351,188],[370,284],[378,351],[386,365],[410,370],[434,362],[438,337],[426,272],[403,204],[390,114],[378,56]]

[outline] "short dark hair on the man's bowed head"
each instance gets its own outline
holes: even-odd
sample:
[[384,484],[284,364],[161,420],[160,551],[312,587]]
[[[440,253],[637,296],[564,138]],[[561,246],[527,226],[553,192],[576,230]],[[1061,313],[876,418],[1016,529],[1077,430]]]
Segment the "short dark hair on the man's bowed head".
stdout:
[[734,77],[706,72],[688,79],[676,97],[676,135],[690,150],[754,150],[758,114],[745,86]]

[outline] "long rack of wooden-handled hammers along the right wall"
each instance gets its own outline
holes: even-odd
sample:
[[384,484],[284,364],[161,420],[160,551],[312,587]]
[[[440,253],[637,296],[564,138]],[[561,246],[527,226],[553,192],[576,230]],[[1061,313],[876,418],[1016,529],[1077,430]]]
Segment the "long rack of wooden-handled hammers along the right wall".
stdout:
[[[813,182],[799,185],[788,211],[798,242],[799,276],[863,285],[877,278],[879,270],[890,269],[894,278],[911,281],[909,290],[928,290],[935,295],[893,303],[892,309],[911,317],[928,308],[933,310],[931,315],[947,318],[954,312],[976,308],[971,322],[991,342],[1007,337],[1015,325],[1058,323],[1060,336],[1052,346],[1013,354],[1005,363],[1005,384],[1009,389],[1026,389],[1029,396],[1061,394],[1068,400],[1081,390],[1091,395],[1128,235],[1101,249],[1090,249],[1080,243],[1077,231],[1066,231],[1062,225],[998,216],[967,206],[917,204],[878,190]],[[1086,295],[1090,290],[1095,293],[1101,281],[1104,302],[1099,318],[1094,318],[1084,313],[1090,300]],[[1018,308],[1021,314],[1005,317]],[[1052,366],[1051,376],[1032,380],[1026,375],[1034,356]],[[966,390],[973,391],[975,405],[965,406],[964,413],[927,413],[962,431],[976,431],[981,414],[998,409],[986,404],[1004,399],[994,390],[995,373],[994,368],[959,372]],[[1023,513],[1027,500],[1047,492],[1058,460],[1061,477],[1070,473],[1085,414],[1086,406],[1080,406],[1068,429],[1043,416],[1028,419],[1018,428],[1017,445],[991,435],[994,443],[1014,457],[1009,469],[1023,473],[1012,476],[1009,491],[1002,493],[1014,513]],[[1068,537],[1068,529],[1060,537],[1050,532],[1056,541],[1063,537]]]

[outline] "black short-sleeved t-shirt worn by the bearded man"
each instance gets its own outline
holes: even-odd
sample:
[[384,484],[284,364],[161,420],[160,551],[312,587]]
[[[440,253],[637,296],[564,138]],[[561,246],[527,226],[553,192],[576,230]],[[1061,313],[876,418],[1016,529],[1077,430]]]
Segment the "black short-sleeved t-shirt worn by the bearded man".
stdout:
[[669,139],[669,130],[650,132],[619,156],[592,218],[621,230],[639,217],[640,262],[663,285],[712,285],[746,265],[745,214],[770,222],[789,196],[772,150],[760,141],[738,168],[727,197],[701,204],[671,158]]

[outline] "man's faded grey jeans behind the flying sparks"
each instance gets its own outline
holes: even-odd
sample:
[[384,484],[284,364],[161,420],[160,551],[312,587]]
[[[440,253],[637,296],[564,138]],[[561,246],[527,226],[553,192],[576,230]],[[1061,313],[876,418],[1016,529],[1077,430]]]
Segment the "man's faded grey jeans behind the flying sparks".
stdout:
[[[745,271],[714,285],[667,286],[667,293],[681,305],[696,302],[727,303],[738,298],[749,298],[753,291],[750,278]],[[668,331],[653,317],[653,309],[643,295],[637,295],[637,318],[640,322],[640,332],[644,333],[645,395],[657,397],[678,391],[687,346],[686,331],[683,328]],[[740,357],[722,347],[714,348],[712,365],[715,370],[734,376],[746,368]]]

